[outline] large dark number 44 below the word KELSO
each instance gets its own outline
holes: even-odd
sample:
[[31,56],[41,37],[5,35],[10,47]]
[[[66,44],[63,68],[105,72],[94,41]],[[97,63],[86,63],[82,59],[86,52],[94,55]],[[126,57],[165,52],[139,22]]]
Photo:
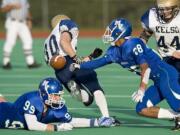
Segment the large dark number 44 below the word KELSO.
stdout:
[[[167,45],[165,44],[165,38],[164,36],[160,36],[159,40],[158,40],[158,46],[159,47],[164,47],[167,48]],[[179,37],[175,36],[170,44],[170,46],[177,46],[177,48],[180,48],[180,41],[179,41]]]

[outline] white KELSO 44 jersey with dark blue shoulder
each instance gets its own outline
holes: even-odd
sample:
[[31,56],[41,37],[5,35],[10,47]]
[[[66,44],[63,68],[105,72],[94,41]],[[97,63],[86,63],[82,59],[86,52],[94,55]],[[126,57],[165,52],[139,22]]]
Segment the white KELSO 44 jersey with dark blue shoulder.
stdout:
[[169,49],[180,50],[180,13],[169,23],[160,23],[155,8],[149,9],[141,17],[144,29],[154,33],[158,51],[166,57]]

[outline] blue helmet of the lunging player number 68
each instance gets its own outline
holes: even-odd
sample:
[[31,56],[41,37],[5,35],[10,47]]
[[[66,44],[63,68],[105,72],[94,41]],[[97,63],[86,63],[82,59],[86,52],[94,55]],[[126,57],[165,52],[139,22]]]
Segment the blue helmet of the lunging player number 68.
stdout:
[[115,42],[119,39],[124,39],[131,36],[132,26],[124,18],[113,20],[110,25],[106,28],[103,35],[103,42],[105,44],[115,45]]

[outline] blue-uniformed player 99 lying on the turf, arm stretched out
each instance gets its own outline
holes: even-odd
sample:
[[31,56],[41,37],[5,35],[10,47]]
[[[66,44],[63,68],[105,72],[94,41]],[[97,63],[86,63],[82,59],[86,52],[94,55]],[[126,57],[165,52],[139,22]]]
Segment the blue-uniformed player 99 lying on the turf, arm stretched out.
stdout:
[[[63,87],[45,78],[38,91],[20,96],[14,103],[0,102],[0,128],[35,131],[67,131],[73,127],[112,126],[113,118],[72,118],[63,99]],[[52,124],[54,123],[54,124]]]

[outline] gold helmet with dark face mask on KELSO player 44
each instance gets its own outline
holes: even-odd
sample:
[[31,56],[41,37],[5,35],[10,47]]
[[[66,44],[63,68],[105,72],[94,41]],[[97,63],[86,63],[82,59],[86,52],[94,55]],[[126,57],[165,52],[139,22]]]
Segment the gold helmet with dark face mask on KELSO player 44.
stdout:
[[157,0],[156,11],[161,23],[170,22],[179,10],[179,0]]

